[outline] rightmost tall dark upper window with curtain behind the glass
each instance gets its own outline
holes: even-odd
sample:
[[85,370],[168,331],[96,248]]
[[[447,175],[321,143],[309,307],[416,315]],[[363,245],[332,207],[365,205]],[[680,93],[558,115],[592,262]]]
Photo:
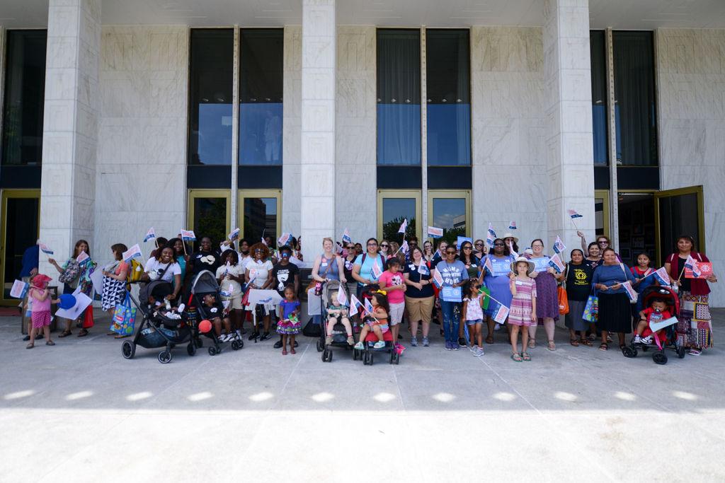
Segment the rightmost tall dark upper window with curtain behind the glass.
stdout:
[[652,32],[613,32],[617,161],[656,166],[655,62]]

